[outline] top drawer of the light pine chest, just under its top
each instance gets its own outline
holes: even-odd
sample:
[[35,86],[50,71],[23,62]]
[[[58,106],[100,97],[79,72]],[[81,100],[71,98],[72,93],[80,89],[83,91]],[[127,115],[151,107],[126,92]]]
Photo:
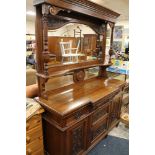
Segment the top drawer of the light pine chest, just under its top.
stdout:
[[26,130],[30,130],[36,126],[38,126],[39,124],[41,124],[41,115],[34,115],[32,118],[30,118],[27,122],[26,122]]

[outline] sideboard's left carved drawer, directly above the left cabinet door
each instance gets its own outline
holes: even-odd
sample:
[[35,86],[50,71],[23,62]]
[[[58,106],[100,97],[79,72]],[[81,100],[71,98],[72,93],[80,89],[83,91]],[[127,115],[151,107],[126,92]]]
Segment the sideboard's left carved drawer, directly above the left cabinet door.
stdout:
[[75,123],[77,120],[84,118],[88,114],[89,114],[89,108],[84,107],[83,109],[80,109],[80,110],[76,111],[75,113],[73,113],[72,115],[70,115],[69,117],[67,117],[66,125],[69,126],[72,123]]

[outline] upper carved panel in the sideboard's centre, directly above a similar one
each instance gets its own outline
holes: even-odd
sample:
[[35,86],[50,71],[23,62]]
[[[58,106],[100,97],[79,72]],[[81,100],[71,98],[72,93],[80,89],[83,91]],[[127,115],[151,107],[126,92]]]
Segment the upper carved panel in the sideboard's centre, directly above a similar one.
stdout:
[[106,103],[104,106],[99,107],[92,115],[92,123],[95,123],[100,118],[106,116],[109,112],[109,103]]

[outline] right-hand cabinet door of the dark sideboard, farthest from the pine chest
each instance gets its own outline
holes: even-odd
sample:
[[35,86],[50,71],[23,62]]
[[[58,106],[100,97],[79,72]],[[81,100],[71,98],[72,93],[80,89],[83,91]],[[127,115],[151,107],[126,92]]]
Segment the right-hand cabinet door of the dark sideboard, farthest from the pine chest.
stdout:
[[120,118],[121,106],[122,106],[122,93],[120,92],[113,98],[109,106],[109,113],[110,113],[109,125],[112,125]]

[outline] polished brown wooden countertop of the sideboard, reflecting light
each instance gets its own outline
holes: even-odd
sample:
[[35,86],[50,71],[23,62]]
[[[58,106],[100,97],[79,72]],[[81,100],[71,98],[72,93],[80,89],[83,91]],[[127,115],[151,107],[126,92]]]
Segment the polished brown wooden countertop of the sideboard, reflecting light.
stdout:
[[48,100],[39,97],[37,101],[47,110],[64,116],[82,106],[99,101],[124,84],[125,82],[116,79],[95,77],[55,90],[49,94]]

